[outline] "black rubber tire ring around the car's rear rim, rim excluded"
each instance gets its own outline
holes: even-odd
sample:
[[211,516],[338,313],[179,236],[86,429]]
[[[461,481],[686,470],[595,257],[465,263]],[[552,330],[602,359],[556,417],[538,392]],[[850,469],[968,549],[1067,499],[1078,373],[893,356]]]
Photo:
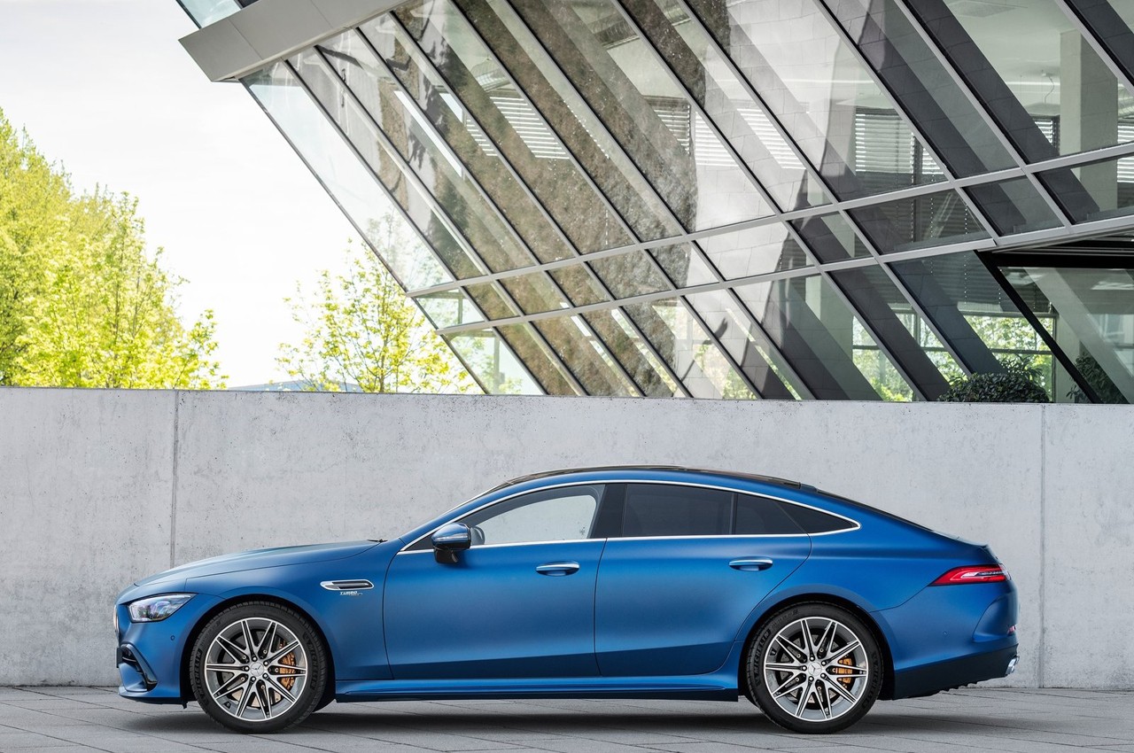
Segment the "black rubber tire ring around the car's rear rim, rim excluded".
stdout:
[[[847,711],[843,716],[828,721],[806,721],[787,713],[771,697],[771,692],[764,684],[762,662],[763,657],[768,651],[769,642],[784,627],[804,617],[809,619],[812,617],[820,619],[837,619],[850,628],[850,631],[858,636],[858,640],[866,653],[866,660],[870,667],[866,689],[858,699],[855,708]],[[780,727],[795,733],[824,735],[837,733],[850,727],[856,721],[862,719],[868,711],[870,711],[870,708],[874,705],[874,701],[878,700],[878,696],[882,691],[885,662],[882,661],[882,651],[879,646],[874,632],[865,625],[863,620],[856,617],[853,612],[836,604],[807,602],[788,607],[787,609],[772,615],[772,617],[760,626],[760,629],[755,633],[751,644],[748,645],[748,651],[745,654],[745,671],[748,683],[748,696],[755,701],[756,705],[760,707],[761,711],[763,711],[769,719]]]

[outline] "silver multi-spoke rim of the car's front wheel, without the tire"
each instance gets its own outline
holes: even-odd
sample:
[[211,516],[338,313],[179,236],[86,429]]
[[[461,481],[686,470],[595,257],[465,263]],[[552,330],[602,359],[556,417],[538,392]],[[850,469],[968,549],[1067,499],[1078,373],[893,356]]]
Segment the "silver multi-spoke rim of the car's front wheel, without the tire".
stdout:
[[268,721],[286,712],[307,684],[307,654],[295,633],[266,617],[237,620],[205,653],[209,695],[226,713]]

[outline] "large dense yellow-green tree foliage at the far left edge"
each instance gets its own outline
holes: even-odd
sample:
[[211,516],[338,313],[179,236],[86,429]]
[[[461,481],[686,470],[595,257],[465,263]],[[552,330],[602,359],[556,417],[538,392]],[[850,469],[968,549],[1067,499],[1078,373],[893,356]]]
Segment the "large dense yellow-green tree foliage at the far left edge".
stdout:
[[160,256],[136,200],[76,194],[0,111],[0,384],[221,386],[212,312],[181,323]]

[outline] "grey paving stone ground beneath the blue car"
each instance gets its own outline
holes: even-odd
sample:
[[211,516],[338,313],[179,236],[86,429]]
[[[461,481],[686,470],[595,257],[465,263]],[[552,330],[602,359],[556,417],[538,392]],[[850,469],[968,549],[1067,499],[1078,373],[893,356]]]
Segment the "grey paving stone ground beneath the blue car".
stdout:
[[531,753],[1134,753],[1134,692],[968,688],[879,702],[849,730],[803,736],[747,701],[332,703],[271,736],[225,731],[196,704],[152,707],[109,687],[0,687],[0,752],[510,751]]

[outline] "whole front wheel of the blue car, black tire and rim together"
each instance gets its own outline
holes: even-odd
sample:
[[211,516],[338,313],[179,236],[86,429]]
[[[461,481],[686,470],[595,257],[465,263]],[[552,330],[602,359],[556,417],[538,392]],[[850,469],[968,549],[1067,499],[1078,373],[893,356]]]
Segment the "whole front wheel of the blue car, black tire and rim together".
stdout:
[[193,645],[189,672],[193,694],[213,721],[237,733],[268,734],[325,705],[327,667],[323,641],[303,615],[249,601],[209,620]]

